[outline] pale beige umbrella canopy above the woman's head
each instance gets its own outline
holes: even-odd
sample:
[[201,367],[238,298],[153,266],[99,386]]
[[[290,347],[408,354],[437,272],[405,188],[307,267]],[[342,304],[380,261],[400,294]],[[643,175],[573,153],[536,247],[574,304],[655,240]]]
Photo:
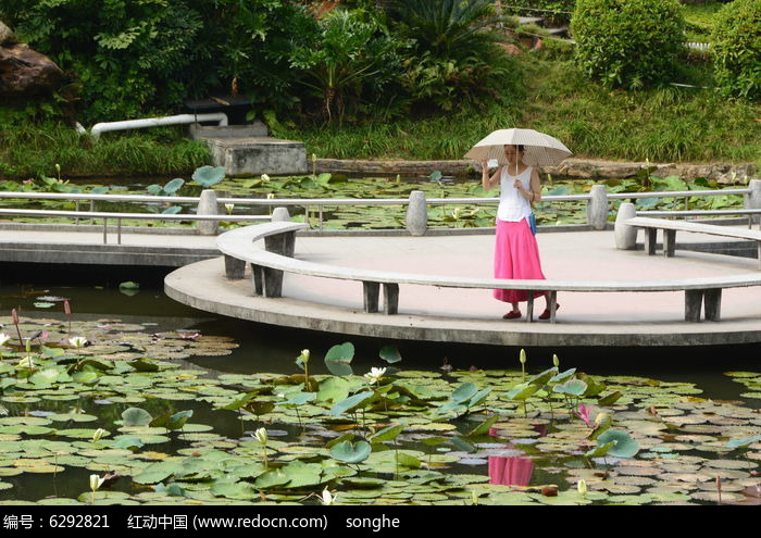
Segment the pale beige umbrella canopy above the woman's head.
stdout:
[[573,154],[560,140],[538,130],[500,129],[473,146],[465,157],[475,161],[496,159],[499,164],[508,164],[506,145],[524,146],[523,162],[529,166],[554,166]]

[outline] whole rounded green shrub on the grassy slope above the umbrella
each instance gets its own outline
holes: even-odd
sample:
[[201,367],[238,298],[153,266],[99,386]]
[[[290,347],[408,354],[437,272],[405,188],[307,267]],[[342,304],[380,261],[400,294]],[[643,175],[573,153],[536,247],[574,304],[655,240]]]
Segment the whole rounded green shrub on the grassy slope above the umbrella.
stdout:
[[608,87],[666,82],[684,41],[677,0],[577,0],[576,62]]

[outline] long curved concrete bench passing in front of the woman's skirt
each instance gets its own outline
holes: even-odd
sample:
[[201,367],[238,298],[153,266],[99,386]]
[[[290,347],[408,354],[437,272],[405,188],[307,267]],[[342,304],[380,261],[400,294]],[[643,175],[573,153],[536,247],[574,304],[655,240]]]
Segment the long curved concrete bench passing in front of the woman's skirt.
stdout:
[[[678,280],[507,280],[500,278],[466,278],[409,273],[338,267],[291,258],[296,232],[308,228],[300,223],[277,222],[247,226],[226,232],[217,237],[217,248],[225,254],[227,278],[242,278],[246,263],[251,264],[254,293],[271,298],[282,297],[283,274],[358,280],[363,284],[364,311],[378,312],[379,287],[384,291],[384,313],[396,314],[399,304],[399,285],[441,286],[451,288],[520,289],[550,292],[550,321],[554,323],[558,291],[574,292],[654,292],[684,291],[685,321],[700,320],[704,302],[706,320],[721,317],[721,296],[724,288],[761,286],[761,276],[721,276],[684,278]],[[255,242],[264,239],[264,249]],[[529,293],[531,297],[531,293]],[[534,300],[529,299],[526,321],[532,322]]]

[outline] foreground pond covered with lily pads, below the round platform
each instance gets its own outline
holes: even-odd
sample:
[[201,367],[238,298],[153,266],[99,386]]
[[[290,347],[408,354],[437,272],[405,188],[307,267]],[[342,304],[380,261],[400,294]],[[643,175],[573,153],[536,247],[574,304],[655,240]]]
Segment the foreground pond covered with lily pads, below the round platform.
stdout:
[[[18,309],[24,337],[49,334],[45,351],[3,348],[0,502],[90,503],[93,473],[121,476],[95,496],[117,504],[315,503],[323,489],[347,504],[715,503],[716,477],[722,502],[759,499],[758,346],[528,349],[524,383],[514,348],[214,316],[167,299],[155,271],[14,268],[0,331],[15,339]],[[323,359],[347,341],[355,375],[335,375]],[[386,346],[402,360],[380,359]],[[302,349],[310,378],[295,376]],[[373,367],[388,370],[373,381]]]

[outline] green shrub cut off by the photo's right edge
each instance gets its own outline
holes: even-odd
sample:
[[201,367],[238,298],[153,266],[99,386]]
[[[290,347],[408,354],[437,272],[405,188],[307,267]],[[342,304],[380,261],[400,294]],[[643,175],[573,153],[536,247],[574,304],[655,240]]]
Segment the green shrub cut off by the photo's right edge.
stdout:
[[761,2],[735,0],[724,5],[711,41],[716,84],[727,95],[761,98]]

